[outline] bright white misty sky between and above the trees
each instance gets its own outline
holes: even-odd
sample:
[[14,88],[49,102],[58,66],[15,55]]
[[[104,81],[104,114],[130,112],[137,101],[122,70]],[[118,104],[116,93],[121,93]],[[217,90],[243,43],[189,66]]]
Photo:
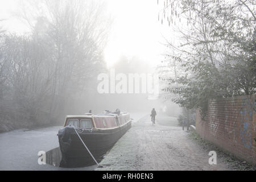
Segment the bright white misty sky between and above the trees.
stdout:
[[[12,32],[26,32],[28,28],[15,16],[19,0],[0,1],[0,19],[4,28]],[[155,66],[162,59],[165,47],[163,36],[170,28],[158,22],[162,6],[156,0],[105,0],[113,18],[105,60],[113,65],[121,56],[138,57]],[[165,33],[164,33],[165,32]]]

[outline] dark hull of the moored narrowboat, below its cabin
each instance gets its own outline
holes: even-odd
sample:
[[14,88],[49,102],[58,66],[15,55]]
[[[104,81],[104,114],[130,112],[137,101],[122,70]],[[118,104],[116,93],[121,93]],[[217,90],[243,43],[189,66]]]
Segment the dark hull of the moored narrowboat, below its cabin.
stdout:
[[[99,162],[102,156],[114,146],[130,127],[131,121],[114,129],[85,130],[79,135],[94,158]],[[69,133],[66,140],[63,140],[63,134],[60,132],[58,136],[62,154],[60,167],[84,167],[95,164],[74,129]]]

